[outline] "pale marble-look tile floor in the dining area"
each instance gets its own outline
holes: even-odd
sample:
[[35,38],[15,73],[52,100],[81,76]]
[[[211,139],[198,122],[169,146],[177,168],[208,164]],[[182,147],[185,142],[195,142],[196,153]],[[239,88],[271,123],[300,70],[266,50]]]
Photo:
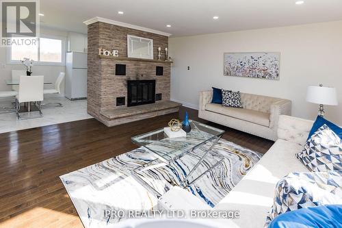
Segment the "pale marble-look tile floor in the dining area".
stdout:
[[[0,107],[11,107],[11,101],[13,99],[2,99]],[[62,103],[63,107],[43,107],[42,113],[44,116],[42,118],[24,121],[18,121],[15,112],[0,114],[0,133],[93,118],[87,114],[86,100],[70,101],[65,97],[49,97],[43,103]],[[0,108],[1,111],[3,110]],[[32,112],[32,115],[38,116],[37,112]],[[25,114],[23,114],[23,118],[25,118]]]

